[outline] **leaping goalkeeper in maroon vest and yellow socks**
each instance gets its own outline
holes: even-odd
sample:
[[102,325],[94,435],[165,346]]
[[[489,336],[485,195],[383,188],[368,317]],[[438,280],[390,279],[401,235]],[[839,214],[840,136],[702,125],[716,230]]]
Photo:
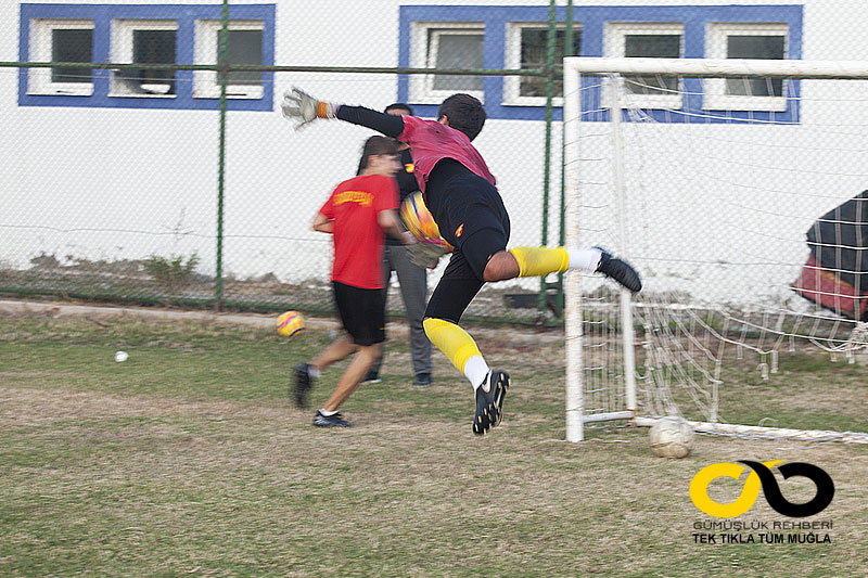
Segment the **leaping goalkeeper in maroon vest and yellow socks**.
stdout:
[[413,151],[414,172],[425,203],[441,235],[455,247],[425,309],[425,333],[476,391],[474,434],[485,434],[500,423],[510,385],[509,374],[489,369],[473,338],[458,326],[485,282],[578,269],[603,273],[634,293],[642,287],[629,264],[598,247],[507,251],[509,215],[494,176],[471,143],[485,124],[485,108],[469,94],[454,94],[443,101],[437,120],[328,103],[297,88],[286,93],[282,110],[284,117],[297,121],[296,128],[317,118],[337,118],[395,137]]

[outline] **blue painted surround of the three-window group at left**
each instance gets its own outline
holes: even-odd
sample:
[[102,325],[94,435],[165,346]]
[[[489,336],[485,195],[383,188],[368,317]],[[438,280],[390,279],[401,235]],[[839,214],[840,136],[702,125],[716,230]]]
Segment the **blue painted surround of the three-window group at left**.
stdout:
[[[22,62],[34,61],[33,52],[38,47],[30,46],[31,29],[39,22],[76,21],[87,23],[81,26],[91,30],[89,36],[92,50],[92,62],[112,62],[113,41],[116,43],[117,24],[119,21],[161,23],[154,25],[157,31],[150,31],[158,38],[159,29],[175,30],[175,63],[195,64],[196,35],[202,34],[201,23],[219,21],[222,7],[183,5],[183,4],[22,4],[18,34],[18,59]],[[275,4],[243,4],[229,8],[230,22],[261,22],[261,64],[275,63]],[[113,24],[114,23],[114,24]],[[170,23],[170,24],[167,24]],[[200,24],[197,26],[197,23]],[[113,28],[114,25],[114,28]],[[230,33],[231,34],[231,33]],[[84,38],[84,36],[81,36]],[[174,108],[205,110],[219,108],[219,100],[212,93],[196,93],[195,82],[201,79],[196,75],[207,74],[194,70],[175,70],[175,82],[169,97],[137,98],[135,94],[118,95],[112,90],[113,72],[94,69],[85,73],[90,76],[91,85],[87,90],[79,90],[77,95],[28,93],[28,80],[33,80],[38,68],[22,68],[18,73],[18,104],[21,106],[84,106],[103,108]],[[66,78],[73,68],[63,69]],[[213,74],[213,73],[212,73]],[[238,73],[237,73],[238,75]],[[250,75],[247,75],[250,76]],[[55,75],[56,78],[56,75]],[[273,101],[273,73],[263,73],[259,79],[261,94],[255,97],[228,99],[227,106],[231,111],[271,111]],[[92,89],[90,89],[92,87]]]

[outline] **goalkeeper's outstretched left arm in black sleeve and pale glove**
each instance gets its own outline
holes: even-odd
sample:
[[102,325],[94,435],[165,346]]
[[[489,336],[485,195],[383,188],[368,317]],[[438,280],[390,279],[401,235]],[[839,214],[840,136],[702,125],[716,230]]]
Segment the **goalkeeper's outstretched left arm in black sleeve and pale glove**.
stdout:
[[296,129],[317,118],[339,118],[373,129],[393,139],[404,132],[404,120],[400,116],[379,113],[365,106],[323,102],[298,88],[293,88],[283,95],[281,108],[288,120],[296,121]]

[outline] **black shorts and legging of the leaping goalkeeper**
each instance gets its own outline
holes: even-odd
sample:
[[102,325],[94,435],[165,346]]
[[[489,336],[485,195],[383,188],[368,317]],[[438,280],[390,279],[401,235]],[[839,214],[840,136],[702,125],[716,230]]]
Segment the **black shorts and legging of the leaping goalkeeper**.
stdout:
[[425,317],[458,323],[485,283],[488,260],[507,248],[509,215],[494,184],[449,158],[432,170],[425,195],[441,236],[455,247]]

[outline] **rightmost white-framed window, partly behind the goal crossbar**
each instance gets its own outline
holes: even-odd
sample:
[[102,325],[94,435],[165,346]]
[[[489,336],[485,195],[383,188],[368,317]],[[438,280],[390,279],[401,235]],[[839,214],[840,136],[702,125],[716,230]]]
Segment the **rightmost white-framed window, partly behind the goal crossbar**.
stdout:
[[[787,56],[786,24],[711,24],[710,59],[781,60]],[[705,82],[705,108],[784,111],[784,82],[776,78],[726,78]]]

